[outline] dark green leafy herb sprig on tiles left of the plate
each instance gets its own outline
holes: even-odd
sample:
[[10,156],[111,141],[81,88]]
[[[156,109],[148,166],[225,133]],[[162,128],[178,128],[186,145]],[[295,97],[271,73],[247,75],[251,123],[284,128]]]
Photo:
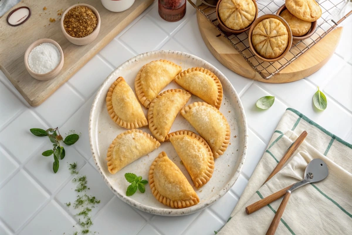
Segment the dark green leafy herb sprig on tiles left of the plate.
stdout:
[[77,134],[71,134],[65,137],[65,139],[60,135],[58,128],[49,128],[48,130],[43,130],[40,128],[30,129],[31,133],[35,136],[43,137],[48,136],[51,143],[53,143],[53,148],[46,150],[42,153],[43,156],[48,157],[54,155],[54,163],[52,164],[52,170],[56,173],[59,169],[59,159],[64,159],[66,152],[64,147],[60,145],[60,142],[64,142],[67,145],[72,145],[77,142],[79,136]]

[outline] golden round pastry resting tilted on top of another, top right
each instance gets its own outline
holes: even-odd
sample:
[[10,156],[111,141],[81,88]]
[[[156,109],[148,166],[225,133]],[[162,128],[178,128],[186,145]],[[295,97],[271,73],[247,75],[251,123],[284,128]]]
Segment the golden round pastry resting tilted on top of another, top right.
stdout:
[[321,7],[315,0],[286,0],[285,6],[295,17],[313,22],[321,17]]

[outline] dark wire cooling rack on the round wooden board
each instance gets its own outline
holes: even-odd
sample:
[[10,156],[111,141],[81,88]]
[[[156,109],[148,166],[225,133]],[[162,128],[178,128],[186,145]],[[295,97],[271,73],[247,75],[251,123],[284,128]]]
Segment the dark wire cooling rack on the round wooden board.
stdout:
[[[218,27],[216,7],[209,7],[200,1],[197,1],[196,4],[192,0],[188,0],[188,2],[219,30],[220,33],[217,36],[224,36],[250,66],[264,79],[270,79],[272,76],[279,73],[352,14],[352,0],[317,0],[321,7],[322,15],[318,19],[314,34],[301,41],[294,40],[290,51],[281,60],[265,62],[252,53],[248,42],[248,30],[238,35],[229,35],[228,33],[222,32]],[[257,0],[256,2],[259,11],[258,17],[263,14],[275,14],[278,8],[285,4],[284,0]]]

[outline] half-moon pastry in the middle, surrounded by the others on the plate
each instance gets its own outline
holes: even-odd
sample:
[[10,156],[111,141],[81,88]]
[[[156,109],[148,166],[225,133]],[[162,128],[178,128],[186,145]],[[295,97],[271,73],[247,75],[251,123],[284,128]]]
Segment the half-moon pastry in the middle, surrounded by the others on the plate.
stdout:
[[169,89],[153,99],[148,110],[149,130],[159,141],[164,141],[168,135],[172,123],[186,105],[191,94],[182,89]]

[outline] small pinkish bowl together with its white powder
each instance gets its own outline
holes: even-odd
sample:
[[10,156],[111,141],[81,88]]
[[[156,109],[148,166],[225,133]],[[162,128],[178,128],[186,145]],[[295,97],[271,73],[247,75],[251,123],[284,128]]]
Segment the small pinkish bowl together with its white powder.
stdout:
[[60,45],[52,39],[43,38],[33,42],[24,54],[28,73],[38,80],[54,78],[64,65],[64,54]]

